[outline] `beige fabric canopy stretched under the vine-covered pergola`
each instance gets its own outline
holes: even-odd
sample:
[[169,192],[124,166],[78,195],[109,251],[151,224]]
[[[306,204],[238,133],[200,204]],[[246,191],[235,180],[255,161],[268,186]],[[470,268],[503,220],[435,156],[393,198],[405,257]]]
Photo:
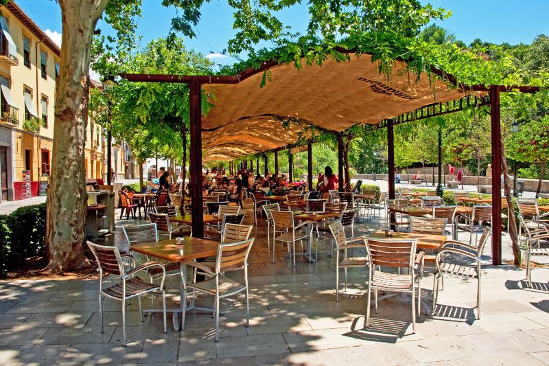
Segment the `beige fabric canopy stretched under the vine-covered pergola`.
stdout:
[[[379,124],[433,103],[458,100],[465,92],[439,78],[419,78],[396,61],[387,78],[369,54],[327,60],[322,67],[276,65],[261,88],[259,71],[236,84],[203,84],[213,108],[202,117],[205,161],[280,148],[299,139],[307,126],[342,131],[354,124]],[[288,128],[283,121],[291,119]]]

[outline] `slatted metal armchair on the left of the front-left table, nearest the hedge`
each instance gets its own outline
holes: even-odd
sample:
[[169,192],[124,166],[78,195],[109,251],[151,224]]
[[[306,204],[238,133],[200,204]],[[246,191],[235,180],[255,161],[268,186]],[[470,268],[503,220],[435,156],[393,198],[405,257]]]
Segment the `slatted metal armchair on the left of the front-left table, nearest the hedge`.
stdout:
[[[164,315],[164,333],[167,332],[166,326],[166,294],[164,292],[165,269],[159,262],[147,262],[126,272],[124,263],[117,247],[107,247],[97,245],[93,242],[86,242],[90,248],[97,265],[99,266],[99,314],[101,319],[101,332],[103,332],[103,298],[109,297],[122,302],[122,333],[124,334],[124,346],[126,346],[126,300],[137,297],[139,304],[139,317],[143,321],[143,311],[141,310],[141,295],[159,295],[162,296],[163,315]],[[162,272],[160,284],[148,284],[136,276],[140,271],[146,271],[150,268],[159,268]],[[103,278],[106,275],[119,276],[119,282],[103,288]]]

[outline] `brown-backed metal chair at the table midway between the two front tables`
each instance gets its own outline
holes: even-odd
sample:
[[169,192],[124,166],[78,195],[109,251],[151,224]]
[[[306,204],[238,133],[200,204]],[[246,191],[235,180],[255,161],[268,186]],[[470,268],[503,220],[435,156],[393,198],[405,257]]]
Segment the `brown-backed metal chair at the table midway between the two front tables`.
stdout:
[[[274,211],[270,210],[272,215],[272,231],[273,233],[283,231],[279,236],[273,236],[272,240],[272,262],[274,263],[274,244],[276,242],[285,242],[288,244],[288,253],[294,256],[294,267],[296,266],[296,242],[301,240],[310,241],[309,233],[300,233],[299,229],[305,227],[305,225],[310,225],[309,221],[302,221],[299,225],[295,225],[294,222],[294,213],[292,211]],[[309,243],[310,244],[310,243]],[[309,258],[312,255],[311,246],[309,245]],[[291,260],[291,259],[290,259]]]

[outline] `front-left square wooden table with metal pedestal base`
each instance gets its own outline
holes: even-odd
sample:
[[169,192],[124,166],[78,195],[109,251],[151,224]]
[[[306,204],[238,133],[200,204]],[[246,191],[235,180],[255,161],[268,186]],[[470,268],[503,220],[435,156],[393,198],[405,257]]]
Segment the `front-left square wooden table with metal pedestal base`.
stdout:
[[[172,263],[179,263],[179,269],[184,276],[187,275],[183,262],[186,260],[196,260],[199,258],[207,258],[218,253],[218,242],[211,240],[192,238],[185,236],[184,245],[176,245],[175,239],[161,240],[159,242],[145,242],[131,244],[130,250],[149,255],[150,257],[160,258]],[[184,298],[183,292],[183,277],[179,276],[179,293],[180,299]],[[185,311],[200,310],[205,312],[212,311],[211,308],[198,308],[194,304],[194,298],[189,299],[189,306],[185,307]],[[144,312],[161,312],[160,309],[146,309]],[[166,309],[167,312],[172,312],[172,322],[174,330],[179,330],[178,314],[183,312],[183,304],[179,308]]]

